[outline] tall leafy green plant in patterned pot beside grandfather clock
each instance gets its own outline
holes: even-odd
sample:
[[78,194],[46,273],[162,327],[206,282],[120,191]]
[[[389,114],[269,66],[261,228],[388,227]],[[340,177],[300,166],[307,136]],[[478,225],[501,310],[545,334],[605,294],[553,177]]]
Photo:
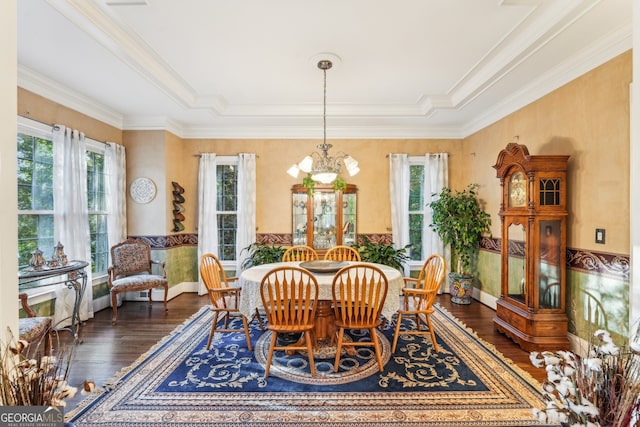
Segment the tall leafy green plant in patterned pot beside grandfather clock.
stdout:
[[477,199],[478,184],[469,184],[463,191],[445,187],[437,199],[429,203],[433,210],[429,225],[445,245],[451,245],[456,262],[449,274],[451,301],[470,304],[475,261],[484,234],[490,234],[491,216],[484,212]]

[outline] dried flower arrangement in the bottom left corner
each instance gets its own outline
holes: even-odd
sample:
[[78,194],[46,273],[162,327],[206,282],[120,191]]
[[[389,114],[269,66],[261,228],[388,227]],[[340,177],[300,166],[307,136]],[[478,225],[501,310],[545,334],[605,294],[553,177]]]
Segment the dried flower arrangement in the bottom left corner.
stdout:
[[3,406],[65,406],[76,387],[67,383],[73,346],[57,355],[45,356],[32,351],[34,358],[25,356],[26,341],[15,340],[11,329],[9,340],[0,344],[0,402]]

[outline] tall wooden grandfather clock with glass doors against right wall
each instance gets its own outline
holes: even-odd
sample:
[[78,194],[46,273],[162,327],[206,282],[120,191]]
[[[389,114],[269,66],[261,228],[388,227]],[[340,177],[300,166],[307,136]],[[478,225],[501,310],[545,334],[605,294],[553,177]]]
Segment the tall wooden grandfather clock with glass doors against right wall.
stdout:
[[527,351],[568,349],[567,162],[510,143],[493,166],[502,188],[501,288],[494,327]]

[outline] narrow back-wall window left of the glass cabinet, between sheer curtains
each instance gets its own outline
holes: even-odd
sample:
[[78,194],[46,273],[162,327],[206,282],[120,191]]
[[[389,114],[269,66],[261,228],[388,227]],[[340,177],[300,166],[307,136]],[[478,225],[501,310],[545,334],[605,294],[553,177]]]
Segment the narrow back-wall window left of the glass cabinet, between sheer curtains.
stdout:
[[220,261],[235,261],[238,228],[238,159],[220,156],[217,163],[218,255]]

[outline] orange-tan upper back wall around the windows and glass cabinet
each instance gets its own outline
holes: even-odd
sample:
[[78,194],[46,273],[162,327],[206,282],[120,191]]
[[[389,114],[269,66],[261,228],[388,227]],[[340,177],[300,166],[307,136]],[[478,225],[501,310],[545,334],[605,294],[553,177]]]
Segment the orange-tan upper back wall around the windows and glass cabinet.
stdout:
[[[253,152],[256,160],[256,197],[258,233],[291,233],[291,186],[302,183],[302,174],[292,178],[286,170],[312,151],[317,151],[318,140],[209,140],[184,141],[183,161],[185,189],[197,194],[199,153],[212,152],[232,155]],[[349,184],[358,186],[358,232],[389,233],[391,211],[389,207],[389,153],[424,154],[443,152],[450,154],[451,181],[460,182],[462,159],[460,140],[331,140],[330,154],[346,152],[358,160],[360,173],[345,176]],[[197,209],[195,197],[187,200],[188,211]],[[193,232],[193,228],[185,231]]]

